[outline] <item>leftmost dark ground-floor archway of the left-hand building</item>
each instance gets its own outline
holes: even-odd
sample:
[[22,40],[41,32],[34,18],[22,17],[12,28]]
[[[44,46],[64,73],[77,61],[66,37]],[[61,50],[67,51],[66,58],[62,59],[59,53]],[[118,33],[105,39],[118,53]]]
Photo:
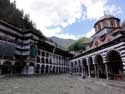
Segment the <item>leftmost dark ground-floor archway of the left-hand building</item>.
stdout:
[[10,74],[12,72],[12,63],[10,61],[5,61],[1,68],[1,74]]

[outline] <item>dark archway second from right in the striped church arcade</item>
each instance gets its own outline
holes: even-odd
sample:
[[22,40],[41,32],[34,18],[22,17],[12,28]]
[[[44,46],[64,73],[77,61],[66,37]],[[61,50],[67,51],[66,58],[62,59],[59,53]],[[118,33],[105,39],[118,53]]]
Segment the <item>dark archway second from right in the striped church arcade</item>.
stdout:
[[106,78],[105,65],[103,63],[103,58],[101,55],[95,57],[96,63],[96,76],[99,78]]

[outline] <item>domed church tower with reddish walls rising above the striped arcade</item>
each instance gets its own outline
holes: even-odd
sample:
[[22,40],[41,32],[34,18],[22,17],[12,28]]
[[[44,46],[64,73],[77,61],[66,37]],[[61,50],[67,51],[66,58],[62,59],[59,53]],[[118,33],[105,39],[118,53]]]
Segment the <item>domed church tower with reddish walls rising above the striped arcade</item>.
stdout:
[[104,14],[95,24],[95,34],[91,37],[90,48],[98,47],[105,44],[113,39],[111,33],[120,29],[120,19]]

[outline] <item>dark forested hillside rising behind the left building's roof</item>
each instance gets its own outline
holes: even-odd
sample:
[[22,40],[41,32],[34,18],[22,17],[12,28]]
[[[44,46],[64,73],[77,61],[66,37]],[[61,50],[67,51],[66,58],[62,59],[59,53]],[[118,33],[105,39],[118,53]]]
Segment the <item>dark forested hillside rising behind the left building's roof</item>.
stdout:
[[10,0],[0,0],[0,20],[4,20],[22,30],[35,29],[34,23],[28,14],[16,8],[15,2]]

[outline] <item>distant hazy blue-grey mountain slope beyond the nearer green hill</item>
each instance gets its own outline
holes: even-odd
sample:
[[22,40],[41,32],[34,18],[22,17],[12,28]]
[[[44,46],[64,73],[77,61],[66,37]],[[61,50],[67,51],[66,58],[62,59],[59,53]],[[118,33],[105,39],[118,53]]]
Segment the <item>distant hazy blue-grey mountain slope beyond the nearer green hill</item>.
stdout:
[[61,39],[61,38],[58,38],[58,37],[55,37],[55,36],[49,37],[49,39],[56,42],[59,46],[61,46],[63,48],[67,45],[72,44],[75,41],[75,40],[72,40],[72,39]]

